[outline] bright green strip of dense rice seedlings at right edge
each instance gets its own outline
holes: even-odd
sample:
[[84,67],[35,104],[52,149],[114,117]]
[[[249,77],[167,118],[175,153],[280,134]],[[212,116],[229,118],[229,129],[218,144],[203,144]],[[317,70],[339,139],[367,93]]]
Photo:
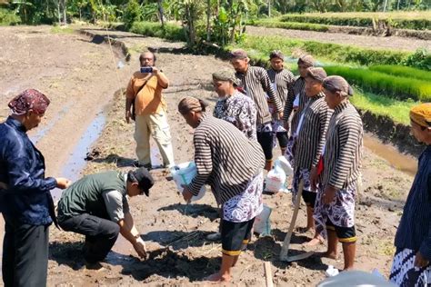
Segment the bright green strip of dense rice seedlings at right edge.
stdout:
[[400,100],[431,101],[431,83],[426,81],[346,66],[326,66],[325,70],[327,74],[345,77],[350,84],[355,84],[367,92]]

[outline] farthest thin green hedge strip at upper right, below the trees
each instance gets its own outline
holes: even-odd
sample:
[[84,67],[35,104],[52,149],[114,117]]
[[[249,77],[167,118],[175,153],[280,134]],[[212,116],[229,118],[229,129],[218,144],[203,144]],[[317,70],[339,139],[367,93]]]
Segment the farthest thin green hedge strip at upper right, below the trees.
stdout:
[[[313,23],[321,25],[346,25],[372,27],[373,17],[348,17],[348,16],[328,16],[328,15],[283,15],[283,22]],[[397,29],[426,30],[431,27],[429,19],[375,19]]]

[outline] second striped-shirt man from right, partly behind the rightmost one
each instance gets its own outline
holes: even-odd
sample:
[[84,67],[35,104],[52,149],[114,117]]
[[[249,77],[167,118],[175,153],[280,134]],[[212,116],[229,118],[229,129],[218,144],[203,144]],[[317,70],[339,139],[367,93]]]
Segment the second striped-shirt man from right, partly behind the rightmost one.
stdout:
[[[322,68],[309,68],[306,74],[306,96],[309,98],[303,113],[300,115],[299,124],[294,134],[294,179],[293,193],[294,200],[303,181],[302,197],[306,202],[306,231],[315,229],[315,220],[313,218],[316,191],[312,191],[310,184],[310,172],[315,167],[322,155],[325,145],[326,131],[329,119],[333,113],[328,108],[323,94],[323,81],[326,78],[326,72]],[[307,243],[307,245],[316,245],[322,242],[323,238],[319,233]]]

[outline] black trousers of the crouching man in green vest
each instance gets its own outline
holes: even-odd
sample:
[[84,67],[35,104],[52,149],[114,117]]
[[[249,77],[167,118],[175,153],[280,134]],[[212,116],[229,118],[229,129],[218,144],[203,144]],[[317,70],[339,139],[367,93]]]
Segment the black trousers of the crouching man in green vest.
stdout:
[[120,233],[117,223],[87,213],[58,223],[66,232],[85,235],[84,259],[89,263],[104,260]]

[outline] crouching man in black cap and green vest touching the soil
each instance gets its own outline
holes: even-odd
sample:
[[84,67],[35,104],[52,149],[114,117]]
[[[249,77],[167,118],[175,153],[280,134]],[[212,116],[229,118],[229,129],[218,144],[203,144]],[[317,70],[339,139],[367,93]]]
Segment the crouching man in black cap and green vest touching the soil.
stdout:
[[126,195],[148,196],[153,184],[151,174],[141,167],[128,173],[89,174],[63,192],[58,202],[58,223],[67,232],[85,235],[84,258],[88,268],[101,267],[98,262],[114,246],[118,233],[145,258],[145,242],[135,228]]

